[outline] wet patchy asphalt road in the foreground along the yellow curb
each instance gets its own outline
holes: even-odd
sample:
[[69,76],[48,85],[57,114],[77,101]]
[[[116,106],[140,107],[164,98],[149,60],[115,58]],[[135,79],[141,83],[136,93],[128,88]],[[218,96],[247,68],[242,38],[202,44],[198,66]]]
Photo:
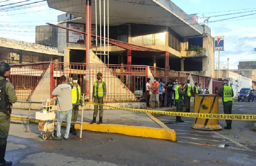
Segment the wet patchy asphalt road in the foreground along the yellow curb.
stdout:
[[[249,109],[255,108],[254,104],[236,102],[234,112],[249,113]],[[170,116],[159,117],[163,118],[171,122]],[[188,125],[181,128],[189,130],[191,122],[186,123]],[[224,125],[224,121],[220,123]],[[173,128],[174,125],[168,126]],[[236,121],[232,127],[229,131],[218,131],[220,135],[210,135],[225,136],[228,138],[225,138],[226,142],[234,144],[224,148],[213,146],[218,146],[219,142],[214,142],[215,138],[209,136],[205,136],[204,140],[211,139],[212,144],[192,142],[193,139],[189,138],[204,138],[198,135],[208,133],[190,131],[194,135],[178,134],[184,132],[183,129],[176,130],[177,142],[88,131],[83,131],[81,140],[78,136],[70,135],[69,140],[44,141],[39,138],[37,125],[31,124],[31,132],[26,133],[26,125],[11,124],[6,159],[12,160],[14,166],[255,166],[256,151],[253,147],[256,132],[251,131],[252,125]],[[234,138],[234,133],[240,137]],[[237,143],[243,147],[238,147]]]

